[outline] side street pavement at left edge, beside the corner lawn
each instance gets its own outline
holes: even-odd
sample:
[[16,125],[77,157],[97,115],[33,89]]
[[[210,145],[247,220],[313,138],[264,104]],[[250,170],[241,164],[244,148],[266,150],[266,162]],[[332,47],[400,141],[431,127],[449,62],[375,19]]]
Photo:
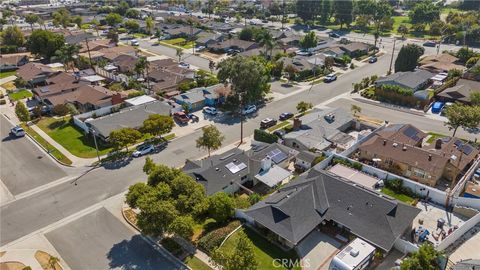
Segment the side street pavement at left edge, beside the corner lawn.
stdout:
[[10,136],[12,124],[0,116],[0,179],[13,194],[45,185],[67,174],[27,137]]

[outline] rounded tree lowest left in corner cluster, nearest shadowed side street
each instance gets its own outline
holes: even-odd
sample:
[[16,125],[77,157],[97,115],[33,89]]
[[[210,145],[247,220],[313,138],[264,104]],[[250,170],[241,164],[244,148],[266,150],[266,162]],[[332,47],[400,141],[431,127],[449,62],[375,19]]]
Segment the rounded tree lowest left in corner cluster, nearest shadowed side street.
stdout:
[[140,210],[137,225],[147,235],[162,235],[178,217],[173,201],[152,200],[150,203],[142,204]]

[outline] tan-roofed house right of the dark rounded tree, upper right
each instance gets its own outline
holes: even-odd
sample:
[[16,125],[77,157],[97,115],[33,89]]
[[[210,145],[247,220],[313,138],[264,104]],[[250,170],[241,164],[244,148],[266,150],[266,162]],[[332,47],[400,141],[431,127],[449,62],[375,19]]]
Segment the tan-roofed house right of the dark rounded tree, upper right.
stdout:
[[465,70],[465,67],[460,64],[458,58],[449,53],[425,56],[418,62],[418,65],[420,69],[432,73],[448,72],[452,69]]

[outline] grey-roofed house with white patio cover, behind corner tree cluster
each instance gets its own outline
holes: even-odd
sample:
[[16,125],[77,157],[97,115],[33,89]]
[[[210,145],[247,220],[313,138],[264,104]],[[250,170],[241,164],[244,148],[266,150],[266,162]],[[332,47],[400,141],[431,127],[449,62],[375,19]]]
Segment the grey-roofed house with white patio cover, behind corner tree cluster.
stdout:
[[250,191],[258,185],[268,190],[290,180],[292,174],[285,168],[297,153],[277,143],[249,151],[234,148],[201,160],[187,159],[183,171],[205,186],[208,195]]

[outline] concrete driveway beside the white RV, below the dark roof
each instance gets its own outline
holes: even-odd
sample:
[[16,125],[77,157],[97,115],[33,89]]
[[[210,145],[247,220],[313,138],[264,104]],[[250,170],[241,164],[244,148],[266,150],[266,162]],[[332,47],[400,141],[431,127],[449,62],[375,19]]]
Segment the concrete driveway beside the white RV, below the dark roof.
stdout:
[[304,269],[328,269],[341,246],[330,236],[313,230],[297,245],[297,253],[303,261]]

